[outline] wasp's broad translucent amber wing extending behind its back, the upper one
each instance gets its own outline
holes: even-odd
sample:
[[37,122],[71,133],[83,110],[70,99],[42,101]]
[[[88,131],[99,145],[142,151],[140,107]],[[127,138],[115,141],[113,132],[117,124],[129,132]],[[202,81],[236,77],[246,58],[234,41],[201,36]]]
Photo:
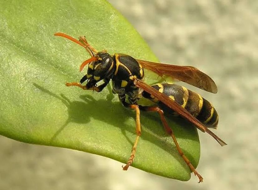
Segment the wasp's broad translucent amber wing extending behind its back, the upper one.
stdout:
[[213,79],[192,66],[178,66],[136,59],[144,68],[159,76],[170,76],[211,93],[217,93]]

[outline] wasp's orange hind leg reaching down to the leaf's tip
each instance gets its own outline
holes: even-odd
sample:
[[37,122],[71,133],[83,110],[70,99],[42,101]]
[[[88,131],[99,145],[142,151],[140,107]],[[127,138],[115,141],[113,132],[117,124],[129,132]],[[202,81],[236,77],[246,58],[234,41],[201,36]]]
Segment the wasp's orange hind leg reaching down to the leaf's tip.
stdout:
[[160,109],[160,107],[158,106],[139,106],[139,108],[142,110],[142,111],[155,111],[155,112],[158,112],[159,115],[160,115],[160,119],[162,121],[162,124],[163,126],[165,127],[165,130],[168,134],[170,134],[170,136],[173,138],[173,141],[176,145],[176,149],[177,151],[179,152],[180,156],[183,157],[185,163],[189,166],[190,170],[192,172],[194,172],[194,175],[197,175],[198,178],[199,178],[199,182],[203,182],[203,177],[195,170],[194,166],[191,164],[191,162],[189,161],[189,159],[184,155],[182,149],[179,147],[179,144],[175,138],[175,135],[174,135],[174,132],[173,130],[169,127],[166,119],[165,119],[165,116],[164,116],[164,112],[163,110]]

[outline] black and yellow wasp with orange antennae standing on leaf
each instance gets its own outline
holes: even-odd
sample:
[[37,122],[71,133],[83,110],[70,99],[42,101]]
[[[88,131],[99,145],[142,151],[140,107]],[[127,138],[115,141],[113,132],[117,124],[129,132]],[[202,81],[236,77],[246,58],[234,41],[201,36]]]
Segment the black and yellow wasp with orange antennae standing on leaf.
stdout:
[[[111,56],[106,50],[97,51],[93,48],[85,36],[79,40],[64,34],[55,33],[55,36],[67,38],[84,47],[91,58],[84,61],[80,66],[80,71],[88,65],[87,74],[78,82],[66,83],[66,86],[77,86],[84,90],[101,92],[107,84],[112,81],[112,92],[118,95],[123,106],[135,110],[136,112],[136,139],[123,170],[127,170],[132,164],[136,147],[141,136],[140,111],[157,112],[165,128],[165,131],[172,137],[176,149],[182,156],[190,170],[197,175],[199,183],[203,182],[203,177],[195,170],[189,159],[184,155],[177,142],[173,130],[169,127],[165,113],[176,113],[177,115],[194,124],[202,132],[210,134],[221,146],[227,145],[222,139],[208,129],[216,128],[218,124],[218,114],[210,102],[199,94],[188,90],[177,84],[163,83],[150,86],[143,81],[144,69],[150,70],[159,76],[169,76],[182,82],[191,84],[211,93],[217,93],[215,82],[206,74],[192,66],[176,66],[161,64],[156,62],[135,59],[126,54],[114,54]],[[86,81],[86,84],[83,83]],[[97,85],[98,82],[102,84]],[[138,105],[141,97],[148,98],[155,102],[155,106]]]

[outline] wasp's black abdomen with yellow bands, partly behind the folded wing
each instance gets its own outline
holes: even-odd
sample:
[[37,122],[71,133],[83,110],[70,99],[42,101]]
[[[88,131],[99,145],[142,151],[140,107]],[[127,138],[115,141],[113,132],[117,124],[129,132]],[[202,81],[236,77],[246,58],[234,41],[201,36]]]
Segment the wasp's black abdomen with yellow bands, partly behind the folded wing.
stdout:
[[[183,86],[170,83],[154,84],[152,87],[173,99],[207,127],[217,128],[217,111],[210,102],[201,97],[198,93],[188,90]],[[150,96],[150,94],[143,92],[142,95],[143,97],[158,103],[165,111],[170,111],[171,113],[174,112],[162,102],[159,102],[155,97]]]

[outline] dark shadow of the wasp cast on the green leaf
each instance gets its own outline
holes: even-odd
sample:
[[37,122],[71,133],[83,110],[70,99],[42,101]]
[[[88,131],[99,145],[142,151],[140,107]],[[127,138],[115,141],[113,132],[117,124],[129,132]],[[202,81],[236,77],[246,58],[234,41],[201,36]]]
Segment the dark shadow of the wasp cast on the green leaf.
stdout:
[[[67,107],[68,111],[68,119],[64,122],[64,124],[53,134],[50,140],[50,146],[54,146],[55,140],[58,139],[58,135],[64,130],[64,128],[70,123],[75,122],[79,124],[87,124],[91,118],[94,120],[99,120],[112,126],[119,128],[122,134],[125,136],[128,142],[133,145],[133,141],[126,134],[130,132],[135,134],[135,128],[132,128],[131,125],[125,124],[125,121],[132,117],[135,118],[135,112],[132,110],[125,109],[120,102],[111,102],[106,99],[100,99],[96,101],[90,95],[81,95],[80,99],[82,101],[70,101],[63,94],[60,96],[56,95],[53,92],[41,87],[38,84],[34,83],[34,86],[40,89],[42,92],[49,94],[52,97],[59,99],[64,105]],[[107,95],[107,98],[113,98],[110,95]],[[88,110],[87,108],[91,108]],[[94,108],[94,109],[92,109]],[[181,164],[185,164],[183,159],[178,156],[178,152],[175,148],[175,145],[172,142],[172,138],[165,134],[165,130],[156,130],[157,127],[162,128],[162,124],[160,122],[160,118],[156,113],[144,113],[141,112],[141,124],[146,127],[142,127],[142,140],[147,140],[156,146],[162,148],[166,152],[169,152],[175,159],[177,159]],[[114,117],[116,115],[124,115],[124,117]],[[180,121],[179,123],[184,121]],[[145,124],[146,123],[146,124]],[[171,121],[169,121],[171,124]],[[147,124],[152,124],[151,126],[147,126]],[[181,129],[182,130],[182,129]],[[187,129],[186,129],[187,130]],[[192,129],[191,129],[192,130]],[[178,133],[177,137],[184,138],[184,135],[179,133],[178,129],[175,130]],[[136,136],[136,135],[135,135]],[[140,145],[139,145],[140,146]],[[128,150],[131,150],[131,147],[128,147]],[[183,152],[186,156],[188,156],[189,160],[194,160],[189,153],[182,148]],[[175,156],[176,155],[176,156]],[[122,162],[126,162],[130,155],[122,158]],[[140,155],[137,155],[140,156]],[[192,162],[193,165],[197,165],[196,162]]]

